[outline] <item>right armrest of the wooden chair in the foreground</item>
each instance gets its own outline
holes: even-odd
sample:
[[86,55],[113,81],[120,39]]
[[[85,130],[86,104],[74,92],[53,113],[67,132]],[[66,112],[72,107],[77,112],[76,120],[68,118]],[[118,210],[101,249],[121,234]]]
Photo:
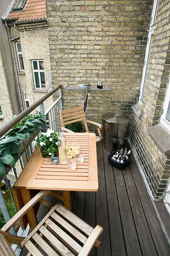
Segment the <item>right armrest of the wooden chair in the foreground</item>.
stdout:
[[87,241],[83,245],[83,248],[81,249],[78,256],[87,256],[89,255],[91,249],[93,248],[97,238],[99,235],[103,232],[103,228],[99,225],[95,227],[95,229],[91,232],[89,237],[87,238]]

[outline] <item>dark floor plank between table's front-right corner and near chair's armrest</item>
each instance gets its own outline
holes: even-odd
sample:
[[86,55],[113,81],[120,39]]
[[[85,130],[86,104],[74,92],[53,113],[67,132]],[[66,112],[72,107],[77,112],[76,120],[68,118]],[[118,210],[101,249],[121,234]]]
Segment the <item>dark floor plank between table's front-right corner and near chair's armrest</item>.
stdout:
[[[86,192],[84,202],[84,219],[90,226],[96,226],[96,192]],[[99,239],[100,241],[100,239]],[[96,255],[96,248],[93,247],[89,256]]]

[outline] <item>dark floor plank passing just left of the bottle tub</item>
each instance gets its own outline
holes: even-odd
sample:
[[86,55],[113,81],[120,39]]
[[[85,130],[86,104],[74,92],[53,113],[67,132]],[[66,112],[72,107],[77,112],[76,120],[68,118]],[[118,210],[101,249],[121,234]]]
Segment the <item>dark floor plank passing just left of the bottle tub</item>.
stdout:
[[122,256],[126,255],[125,242],[122,231],[122,223],[120,218],[120,211],[118,205],[118,198],[116,193],[113,167],[108,162],[108,155],[103,147],[103,160],[106,179],[106,195],[109,216],[109,229],[110,229],[110,244],[112,255]]

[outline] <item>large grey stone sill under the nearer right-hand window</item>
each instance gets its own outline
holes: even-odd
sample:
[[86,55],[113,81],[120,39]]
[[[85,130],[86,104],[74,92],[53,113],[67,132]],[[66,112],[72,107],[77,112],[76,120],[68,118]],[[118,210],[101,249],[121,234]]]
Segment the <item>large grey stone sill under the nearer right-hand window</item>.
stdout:
[[155,124],[149,126],[147,129],[149,135],[155,142],[159,150],[164,153],[164,155],[170,155],[170,132],[163,124]]

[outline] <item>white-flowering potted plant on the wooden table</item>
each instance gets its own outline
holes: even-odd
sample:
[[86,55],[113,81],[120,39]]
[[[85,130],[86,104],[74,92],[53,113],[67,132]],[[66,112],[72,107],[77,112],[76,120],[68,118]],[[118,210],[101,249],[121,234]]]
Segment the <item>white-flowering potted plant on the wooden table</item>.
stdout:
[[39,139],[37,139],[37,146],[41,147],[42,157],[54,157],[58,155],[58,132],[50,129],[47,132],[41,132]]

